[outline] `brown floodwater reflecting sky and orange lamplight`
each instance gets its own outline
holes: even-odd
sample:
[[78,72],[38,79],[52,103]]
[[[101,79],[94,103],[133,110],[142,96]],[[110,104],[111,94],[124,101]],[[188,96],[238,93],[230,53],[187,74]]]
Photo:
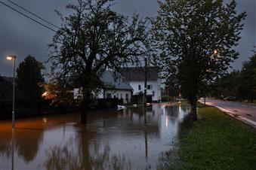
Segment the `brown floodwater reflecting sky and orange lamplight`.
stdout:
[[0,121],[0,169],[157,169],[177,146],[190,108],[153,105],[88,114],[58,114]]

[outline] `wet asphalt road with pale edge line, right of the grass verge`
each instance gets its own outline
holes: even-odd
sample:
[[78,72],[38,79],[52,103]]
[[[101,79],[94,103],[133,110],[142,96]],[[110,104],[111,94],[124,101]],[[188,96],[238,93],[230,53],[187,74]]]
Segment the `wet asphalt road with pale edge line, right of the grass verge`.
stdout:
[[255,104],[206,99],[206,105],[214,105],[217,108],[238,117],[239,120],[244,120],[256,127]]

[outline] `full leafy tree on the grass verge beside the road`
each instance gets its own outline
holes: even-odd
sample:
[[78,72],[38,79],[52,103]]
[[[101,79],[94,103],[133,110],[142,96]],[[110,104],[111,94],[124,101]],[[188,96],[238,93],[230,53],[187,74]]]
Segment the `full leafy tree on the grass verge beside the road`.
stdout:
[[192,106],[193,120],[199,97],[239,55],[233,47],[238,45],[245,16],[236,14],[235,1],[227,5],[221,0],[159,1],[153,21],[159,65],[167,79],[177,80]]

